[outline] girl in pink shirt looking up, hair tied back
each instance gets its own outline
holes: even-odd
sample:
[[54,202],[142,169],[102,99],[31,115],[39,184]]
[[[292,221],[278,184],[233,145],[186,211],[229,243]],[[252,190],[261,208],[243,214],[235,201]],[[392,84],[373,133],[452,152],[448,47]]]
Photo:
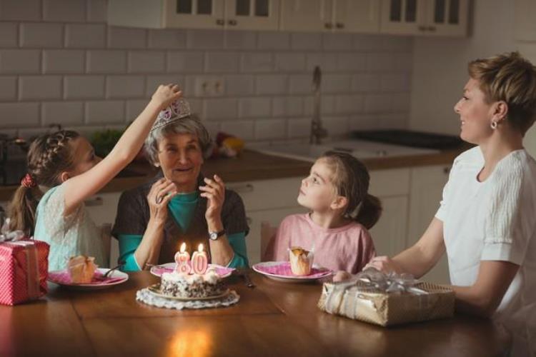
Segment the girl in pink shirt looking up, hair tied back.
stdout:
[[310,212],[287,216],[277,228],[264,261],[288,261],[288,248],[314,249],[314,263],[358,273],[376,255],[368,228],[382,212],[370,195],[369,173],[347,153],[328,151],[302,180],[298,203]]

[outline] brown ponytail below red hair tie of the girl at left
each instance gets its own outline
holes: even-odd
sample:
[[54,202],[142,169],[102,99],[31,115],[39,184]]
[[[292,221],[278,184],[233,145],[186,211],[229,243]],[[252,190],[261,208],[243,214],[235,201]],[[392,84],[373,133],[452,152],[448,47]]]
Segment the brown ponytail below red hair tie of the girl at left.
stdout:
[[36,190],[39,191],[39,188],[28,188],[23,185],[16,189],[8,208],[10,231],[24,231],[28,236],[34,234],[37,207],[34,191]]

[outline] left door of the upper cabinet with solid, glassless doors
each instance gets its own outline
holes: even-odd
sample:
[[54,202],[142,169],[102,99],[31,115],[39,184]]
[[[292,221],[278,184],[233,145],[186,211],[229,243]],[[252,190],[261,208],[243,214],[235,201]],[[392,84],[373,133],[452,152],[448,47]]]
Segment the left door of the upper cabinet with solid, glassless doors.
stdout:
[[332,28],[332,0],[282,1],[280,30],[331,31]]

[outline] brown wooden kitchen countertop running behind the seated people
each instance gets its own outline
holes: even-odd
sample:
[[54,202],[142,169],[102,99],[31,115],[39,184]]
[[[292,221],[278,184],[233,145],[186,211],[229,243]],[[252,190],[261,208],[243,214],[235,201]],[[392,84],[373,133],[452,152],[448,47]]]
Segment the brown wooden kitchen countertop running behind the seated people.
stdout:
[[[397,169],[402,167],[449,165],[467,147],[441,151],[439,154],[420,154],[362,160],[369,170]],[[226,183],[307,176],[311,163],[244,150],[238,158],[217,158],[205,161],[203,173],[218,174]],[[157,170],[146,162],[134,162],[128,166],[128,177],[116,177],[101,192],[121,192],[147,182]],[[17,186],[0,186],[0,201],[11,199]]]

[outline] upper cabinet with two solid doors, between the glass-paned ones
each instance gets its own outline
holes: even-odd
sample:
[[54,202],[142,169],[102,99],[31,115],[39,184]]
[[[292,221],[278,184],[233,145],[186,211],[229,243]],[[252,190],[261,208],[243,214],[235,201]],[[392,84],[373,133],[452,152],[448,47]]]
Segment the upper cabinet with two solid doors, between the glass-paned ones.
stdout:
[[285,0],[279,29],[289,31],[378,32],[377,0]]

